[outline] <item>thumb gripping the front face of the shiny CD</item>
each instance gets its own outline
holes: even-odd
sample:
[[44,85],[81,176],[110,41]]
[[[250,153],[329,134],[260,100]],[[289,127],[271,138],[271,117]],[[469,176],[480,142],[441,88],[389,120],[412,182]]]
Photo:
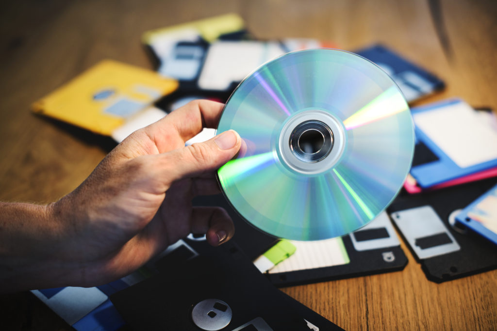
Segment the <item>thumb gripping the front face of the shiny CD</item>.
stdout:
[[[240,135],[228,130],[204,141],[165,154],[173,181],[218,169],[240,150]],[[172,166],[172,169],[171,169]]]

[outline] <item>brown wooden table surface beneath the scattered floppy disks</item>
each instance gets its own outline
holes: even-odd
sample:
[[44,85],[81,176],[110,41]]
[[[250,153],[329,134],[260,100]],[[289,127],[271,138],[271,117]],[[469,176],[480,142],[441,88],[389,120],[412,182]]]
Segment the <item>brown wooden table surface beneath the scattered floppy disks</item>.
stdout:
[[[495,0],[9,1],[0,14],[0,200],[56,200],[108,152],[91,134],[33,115],[33,101],[101,59],[152,68],[144,31],[227,12],[261,39],[318,38],[345,50],[383,43],[445,80],[417,104],[458,96],[497,109]],[[282,290],[346,330],[497,328],[497,270],[436,284],[402,247],[403,271]],[[70,329],[30,298],[0,296],[2,324]]]

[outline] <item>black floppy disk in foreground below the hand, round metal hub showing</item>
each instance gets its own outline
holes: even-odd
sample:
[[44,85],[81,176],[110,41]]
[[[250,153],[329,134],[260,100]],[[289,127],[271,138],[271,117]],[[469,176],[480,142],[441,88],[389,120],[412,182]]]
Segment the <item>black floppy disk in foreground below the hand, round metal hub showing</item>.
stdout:
[[159,274],[111,295],[134,330],[341,330],[276,289],[228,242],[185,239]]

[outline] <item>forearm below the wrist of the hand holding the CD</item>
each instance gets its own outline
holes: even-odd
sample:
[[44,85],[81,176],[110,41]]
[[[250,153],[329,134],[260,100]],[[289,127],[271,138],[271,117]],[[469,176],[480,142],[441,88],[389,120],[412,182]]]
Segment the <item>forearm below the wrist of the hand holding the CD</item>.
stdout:
[[67,226],[52,205],[0,202],[0,292],[59,286],[74,268],[59,259]]

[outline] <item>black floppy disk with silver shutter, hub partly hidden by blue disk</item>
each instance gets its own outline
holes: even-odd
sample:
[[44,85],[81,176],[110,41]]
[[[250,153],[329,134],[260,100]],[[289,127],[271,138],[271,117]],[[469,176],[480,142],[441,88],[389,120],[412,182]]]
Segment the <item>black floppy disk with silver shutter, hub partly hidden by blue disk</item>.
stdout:
[[401,194],[388,207],[429,280],[443,282],[497,267],[495,244],[456,222],[462,208],[496,183],[490,178],[422,195]]

